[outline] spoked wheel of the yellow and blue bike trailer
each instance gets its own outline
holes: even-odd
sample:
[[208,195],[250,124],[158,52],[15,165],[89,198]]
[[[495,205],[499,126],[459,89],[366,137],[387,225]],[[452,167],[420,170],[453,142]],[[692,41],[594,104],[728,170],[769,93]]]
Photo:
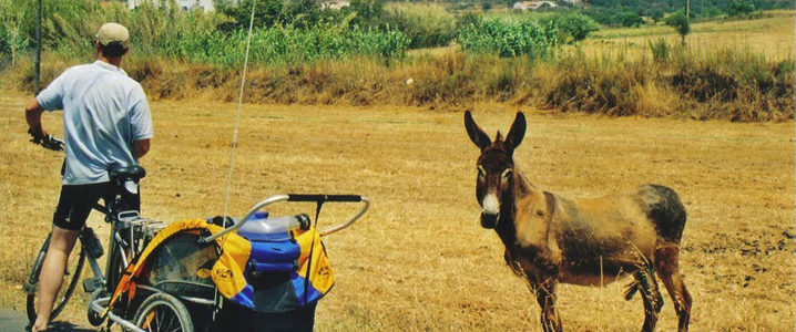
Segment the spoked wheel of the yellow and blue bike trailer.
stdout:
[[185,304],[166,293],[155,293],[141,303],[135,325],[147,332],[193,332]]

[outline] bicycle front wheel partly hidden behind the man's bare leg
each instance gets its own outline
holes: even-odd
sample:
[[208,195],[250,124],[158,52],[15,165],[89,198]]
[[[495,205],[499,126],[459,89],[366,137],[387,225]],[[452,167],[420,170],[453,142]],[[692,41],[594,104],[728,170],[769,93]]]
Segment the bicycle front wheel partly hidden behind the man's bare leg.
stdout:
[[[47,251],[49,248],[50,236],[47,237],[47,241],[44,241],[44,245],[41,246],[41,249],[35,257],[35,261],[33,262],[30,278],[28,279],[28,283],[25,284],[28,291],[27,311],[28,319],[31,323],[35,322],[35,318],[38,317],[39,312],[39,277],[41,274],[41,268],[44,264],[44,257],[47,256]],[[61,289],[59,290],[58,295],[55,297],[55,302],[52,305],[50,321],[55,320],[55,318],[67,305],[69,298],[72,297],[74,289],[80,282],[80,273],[83,271],[84,264],[85,251],[83,251],[82,243],[78,241],[72,249],[72,252],[69,255],[69,259],[67,260],[67,269],[63,274],[63,281],[61,282]]]

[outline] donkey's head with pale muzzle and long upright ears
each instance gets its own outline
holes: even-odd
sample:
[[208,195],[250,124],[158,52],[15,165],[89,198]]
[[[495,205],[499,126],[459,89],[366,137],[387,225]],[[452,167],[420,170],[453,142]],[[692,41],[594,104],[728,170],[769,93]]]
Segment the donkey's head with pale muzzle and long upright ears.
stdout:
[[500,219],[501,204],[512,198],[514,188],[514,148],[525,136],[525,116],[517,112],[509,135],[503,141],[500,132],[494,142],[472,120],[469,111],[465,112],[465,127],[472,143],[481,149],[478,157],[478,180],[476,198],[481,205],[481,226],[494,228]]

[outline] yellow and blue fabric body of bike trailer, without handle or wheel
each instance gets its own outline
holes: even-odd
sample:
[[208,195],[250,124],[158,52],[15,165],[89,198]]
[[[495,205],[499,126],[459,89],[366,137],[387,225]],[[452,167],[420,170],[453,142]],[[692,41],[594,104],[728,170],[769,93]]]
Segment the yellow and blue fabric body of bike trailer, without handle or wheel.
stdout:
[[[248,222],[258,221],[266,222]],[[136,286],[188,301],[212,300],[217,290],[225,299],[220,319],[241,326],[231,330],[249,330],[247,322],[263,318],[282,319],[283,331],[312,330],[316,302],[335,282],[319,232],[312,227],[279,234],[242,229],[201,243],[201,237],[222,230],[203,219],[174,222],[161,230],[127,267],[109,308],[135,307],[140,301]],[[309,326],[300,329],[292,322]]]

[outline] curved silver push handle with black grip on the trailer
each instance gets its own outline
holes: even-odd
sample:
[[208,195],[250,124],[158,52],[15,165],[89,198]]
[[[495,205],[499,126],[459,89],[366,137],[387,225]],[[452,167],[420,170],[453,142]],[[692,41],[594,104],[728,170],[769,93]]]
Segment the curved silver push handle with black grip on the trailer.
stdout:
[[235,226],[224,229],[215,235],[212,235],[212,236],[208,236],[205,238],[200,238],[200,242],[206,243],[206,242],[213,241],[220,237],[223,237],[232,231],[237,230],[238,228],[243,227],[243,225],[246,224],[246,221],[252,219],[254,214],[259,211],[262,208],[264,208],[268,205],[272,205],[274,203],[277,203],[277,201],[314,201],[317,204],[324,204],[327,201],[329,201],[329,203],[364,203],[364,205],[359,208],[359,210],[354,216],[348,218],[348,220],[320,231],[320,236],[327,236],[327,235],[330,235],[333,232],[339,231],[341,229],[345,229],[345,228],[351,226],[351,224],[354,224],[359,218],[361,218],[365,215],[365,212],[368,210],[368,208],[370,208],[370,200],[363,196],[359,196],[359,195],[288,194],[288,195],[272,196],[269,198],[266,198],[266,199],[255,204],[248,210],[248,214],[246,214],[246,216],[244,216],[241,219],[241,221],[235,224]]

